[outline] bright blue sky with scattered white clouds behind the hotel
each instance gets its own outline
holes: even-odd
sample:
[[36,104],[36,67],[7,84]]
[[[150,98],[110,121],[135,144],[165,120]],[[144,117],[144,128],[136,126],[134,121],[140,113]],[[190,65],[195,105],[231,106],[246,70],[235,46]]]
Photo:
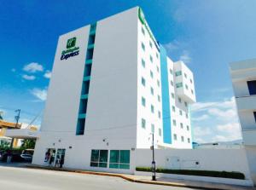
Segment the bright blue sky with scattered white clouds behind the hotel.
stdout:
[[0,0],[0,110],[40,124],[58,36],[140,6],[172,60],[194,72],[195,141],[241,138],[229,63],[256,57],[255,1]]

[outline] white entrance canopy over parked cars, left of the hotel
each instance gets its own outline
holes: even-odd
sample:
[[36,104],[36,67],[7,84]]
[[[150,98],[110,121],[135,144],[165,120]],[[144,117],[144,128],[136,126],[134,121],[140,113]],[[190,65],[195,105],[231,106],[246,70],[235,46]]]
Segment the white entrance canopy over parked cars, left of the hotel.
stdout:
[[37,139],[40,137],[40,131],[31,129],[6,130],[5,136],[16,139]]

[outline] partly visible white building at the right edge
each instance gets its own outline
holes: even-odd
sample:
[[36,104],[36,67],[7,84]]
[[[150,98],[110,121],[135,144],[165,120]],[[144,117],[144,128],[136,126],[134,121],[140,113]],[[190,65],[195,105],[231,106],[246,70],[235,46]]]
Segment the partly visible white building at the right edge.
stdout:
[[254,185],[256,184],[256,59],[230,64],[241,134]]

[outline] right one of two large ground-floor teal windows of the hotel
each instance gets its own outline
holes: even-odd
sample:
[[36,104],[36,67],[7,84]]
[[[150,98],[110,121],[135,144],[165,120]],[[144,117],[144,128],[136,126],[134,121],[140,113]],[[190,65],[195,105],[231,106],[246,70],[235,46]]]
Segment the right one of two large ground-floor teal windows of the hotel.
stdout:
[[130,169],[130,151],[111,150],[109,168]]

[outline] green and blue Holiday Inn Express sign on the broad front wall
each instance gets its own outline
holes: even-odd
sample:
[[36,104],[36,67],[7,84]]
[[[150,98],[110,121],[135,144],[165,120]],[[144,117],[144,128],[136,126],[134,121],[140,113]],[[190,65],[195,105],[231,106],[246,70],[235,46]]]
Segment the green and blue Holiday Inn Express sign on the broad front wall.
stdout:
[[67,60],[69,57],[79,55],[79,47],[76,47],[77,37],[67,40],[66,50],[61,52],[61,60]]

